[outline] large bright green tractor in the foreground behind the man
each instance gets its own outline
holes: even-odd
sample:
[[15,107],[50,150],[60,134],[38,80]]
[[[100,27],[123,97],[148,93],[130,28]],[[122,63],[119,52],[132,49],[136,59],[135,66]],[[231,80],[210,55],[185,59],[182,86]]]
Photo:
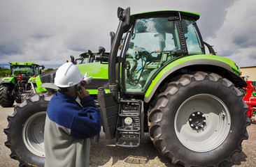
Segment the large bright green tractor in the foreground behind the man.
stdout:
[[[100,63],[78,65],[94,77],[87,90],[100,106],[106,138],[129,148],[150,138],[163,156],[183,166],[231,161],[248,138],[248,106],[238,90],[247,84],[233,61],[216,56],[204,42],[199,14],[130,15],[130,8],[118,8],[118,18],[109,58],[101,49],[94,55]],[[41,75],[42,83],[46,78],[53,81],[54,74]],[[45,111],[55,89],[45,87],[47,93],[25,100],[8,116],[6,146],[20,166],[44,164]]]

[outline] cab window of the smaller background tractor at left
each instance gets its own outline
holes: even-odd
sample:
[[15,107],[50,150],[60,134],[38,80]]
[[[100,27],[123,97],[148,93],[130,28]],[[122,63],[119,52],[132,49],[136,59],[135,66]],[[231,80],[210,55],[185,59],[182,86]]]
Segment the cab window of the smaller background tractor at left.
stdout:
[[39,74],[38,67],[33,66],[13,66],[12,71],[14,77],[32,77]]

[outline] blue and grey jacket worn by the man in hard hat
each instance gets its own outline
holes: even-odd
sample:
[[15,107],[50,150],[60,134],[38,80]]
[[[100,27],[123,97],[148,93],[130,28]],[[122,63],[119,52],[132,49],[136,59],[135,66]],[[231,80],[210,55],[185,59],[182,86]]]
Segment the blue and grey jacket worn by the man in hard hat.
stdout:
[[89,166],[90,137],[101,131],[101,115],[90,96],[76,104],[76,97],[57,92],[45,118],[45,166]]

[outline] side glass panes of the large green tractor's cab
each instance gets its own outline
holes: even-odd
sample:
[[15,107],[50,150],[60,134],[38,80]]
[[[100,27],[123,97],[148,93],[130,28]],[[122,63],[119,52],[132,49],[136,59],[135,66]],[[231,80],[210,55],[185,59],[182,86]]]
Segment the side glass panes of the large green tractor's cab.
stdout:
[[[188,54],[202,54],[193,22],[183,19]],[[183,56],[175,21],[168,17],[137,19],[125,58],[125,90],[143,92],[159,68]]]

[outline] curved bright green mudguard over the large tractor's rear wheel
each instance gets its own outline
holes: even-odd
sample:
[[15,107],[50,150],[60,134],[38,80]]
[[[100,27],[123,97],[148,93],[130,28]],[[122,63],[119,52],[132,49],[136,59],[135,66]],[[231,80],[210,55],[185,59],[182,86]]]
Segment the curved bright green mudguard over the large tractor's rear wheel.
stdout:
[[205,65],[204,69],[207,65],[209,67],[208,70],[212,72],[214,72],[214,70],[210,69],[211,67],[218,67],[226,71],[226,74],[220,75],[232,81],[236,87],[247,86],[246,81],[239,77],[241,72],[236,67],[234,61],[230,61],[227,58],[213,55],[185,56],[169,63],[155,75],[155,78],[152,80],[150,86],[148,87],[148,90],[145,93],[145,102],[150,102],[159,85],[162,84],[162,81],[169,77],[170,74],[173,74],[173,72],[176,72],[177,70],[180,70],[182,68],[190,69],[196,65],[199,67]]

